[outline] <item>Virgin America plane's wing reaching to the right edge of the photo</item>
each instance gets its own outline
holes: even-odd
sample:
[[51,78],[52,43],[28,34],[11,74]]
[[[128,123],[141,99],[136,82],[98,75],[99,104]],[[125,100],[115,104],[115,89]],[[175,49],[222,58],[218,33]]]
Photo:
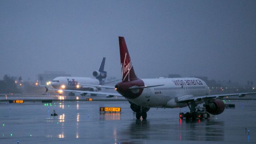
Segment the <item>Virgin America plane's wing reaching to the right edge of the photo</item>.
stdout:
[[192,102],[192,101],[196,102],[196,101],[200,101],[203,99],[210,99],[210,98],[222,99],[225,96],[239,96],[241,98],[248,94],[256,94],[256,92],[235,93],[235,94],[216,94],[216,95],[206,95],[206,96],[184,96],[178,99],[176,102],[181,102],[181,103]]

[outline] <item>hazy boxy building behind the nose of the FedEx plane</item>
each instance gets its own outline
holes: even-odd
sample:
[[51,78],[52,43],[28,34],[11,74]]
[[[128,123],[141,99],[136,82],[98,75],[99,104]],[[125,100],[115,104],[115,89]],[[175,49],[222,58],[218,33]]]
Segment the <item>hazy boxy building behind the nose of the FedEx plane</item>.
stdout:
[[71,76],[63,71],[45,71],[43,74],[38,74],[38,81],[40,85],[48,85],[47,82],[51,82],[54,78],[59,76]]

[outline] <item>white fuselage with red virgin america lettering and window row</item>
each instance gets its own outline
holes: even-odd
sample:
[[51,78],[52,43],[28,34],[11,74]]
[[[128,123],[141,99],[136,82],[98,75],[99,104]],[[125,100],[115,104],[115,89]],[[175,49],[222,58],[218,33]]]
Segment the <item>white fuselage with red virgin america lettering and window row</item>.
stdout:
[[210,92],[207,84],[199,78],[155,78],[141,80],[143,80],[145,86],[164,84],[164,86],[144,88],[138,98],[129,99],[137,105],[149,108],[185,107],[188,106],[186,103],[176,103],[176,101],[184,97],[206,96]]

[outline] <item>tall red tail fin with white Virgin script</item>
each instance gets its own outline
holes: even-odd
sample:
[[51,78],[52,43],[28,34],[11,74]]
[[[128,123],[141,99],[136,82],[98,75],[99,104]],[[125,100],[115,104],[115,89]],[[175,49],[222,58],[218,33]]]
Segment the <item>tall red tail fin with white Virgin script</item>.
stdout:
[[120,60],[121,60],[121,71],[122,71],[122,81],[132,81],[138,80],[130,59],[129,52],[124,40],[124,37],[119,36],[119,48],[120,48]]

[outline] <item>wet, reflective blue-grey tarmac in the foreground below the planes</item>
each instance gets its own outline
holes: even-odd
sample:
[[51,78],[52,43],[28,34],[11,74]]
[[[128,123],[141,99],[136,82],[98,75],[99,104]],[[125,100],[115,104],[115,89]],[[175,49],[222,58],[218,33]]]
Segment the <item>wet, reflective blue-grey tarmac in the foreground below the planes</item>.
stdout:
[[[255,102],[226,101],[236,108],[196,121],[178,118],[188,108],[151,108],[136,120],[127,101],[0,102],[0,144],[255,144]],[[107,106],[122,111],[99,112]]]

